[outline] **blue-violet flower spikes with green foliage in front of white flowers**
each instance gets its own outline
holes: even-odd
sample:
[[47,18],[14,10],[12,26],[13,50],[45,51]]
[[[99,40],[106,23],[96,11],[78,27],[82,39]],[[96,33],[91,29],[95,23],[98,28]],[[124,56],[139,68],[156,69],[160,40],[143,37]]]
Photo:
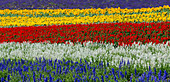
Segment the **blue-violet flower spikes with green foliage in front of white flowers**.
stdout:
[[[166,70],[150,66],[146,71],[140,68],[133,68],[132,63],[120,61],[119,68],[110,66],[109,63],[99,61],[98,63],[88,62],[86,59],[79,61],[52,60],[37,58],[36,61],[23,59],[1,60],[0,78],[1,82],[169,82],[169,75]],[[126,64],[127,63],[127,64]]]

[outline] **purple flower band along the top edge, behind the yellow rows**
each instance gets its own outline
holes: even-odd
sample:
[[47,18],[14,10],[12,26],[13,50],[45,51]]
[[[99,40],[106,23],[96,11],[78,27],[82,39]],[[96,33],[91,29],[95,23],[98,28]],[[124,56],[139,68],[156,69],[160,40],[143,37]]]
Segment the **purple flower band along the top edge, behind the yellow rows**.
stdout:
[[0,9],[147,8],[170,5],[170,0],[0,0]]

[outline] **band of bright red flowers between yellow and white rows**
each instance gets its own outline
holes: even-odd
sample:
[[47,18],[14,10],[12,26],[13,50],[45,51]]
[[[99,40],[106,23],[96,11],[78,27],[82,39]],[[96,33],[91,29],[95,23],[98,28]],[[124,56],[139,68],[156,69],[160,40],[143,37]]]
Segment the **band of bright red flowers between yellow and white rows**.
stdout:
[[170,40],[170,22],[161,23],[109,23],[88,25],[53,25],[18,28],[0,28],[0,42],[119,42],[118,45],[142,43],[162,43]]

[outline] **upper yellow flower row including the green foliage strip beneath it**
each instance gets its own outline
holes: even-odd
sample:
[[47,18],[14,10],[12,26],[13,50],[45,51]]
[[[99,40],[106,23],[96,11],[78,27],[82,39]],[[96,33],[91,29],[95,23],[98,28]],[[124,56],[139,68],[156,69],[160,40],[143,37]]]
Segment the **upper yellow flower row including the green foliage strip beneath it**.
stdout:
[[120,9],[119,8],[105,8],[105,9],[33,9],[33,10],[0,10],[0,16],[87,16],[87,15],[113,15],[113,14],[142,14],[142,13],[156,13],[169,12],[169,5],[163,7],[141,8],[141,9]]

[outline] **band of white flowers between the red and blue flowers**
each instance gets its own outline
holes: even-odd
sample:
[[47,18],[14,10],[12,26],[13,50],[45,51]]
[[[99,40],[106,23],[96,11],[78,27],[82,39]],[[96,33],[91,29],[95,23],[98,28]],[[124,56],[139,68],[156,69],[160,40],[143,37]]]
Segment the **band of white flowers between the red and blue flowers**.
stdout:
[[[85,43],[84,43],[85,44]],[[139,43],[138,43],[139,44]],[[45,57],[47,59],[70,58],[79,60],[80,58],[92,57],[95,60],[105,60],[112,65],[119,65],[123,58],[125,61],[132,61],[134,65],[155,66],[158,64],[170,63],[170,46],[168,42],[163,44],[133,44],[131,47],[118,46],[114,48],[112,44],[101,44],[87,42],[86,46],[82,44],[49,44],[49,43],[1,43],[0,58],[22,58],[33,59],[36,57]]]

